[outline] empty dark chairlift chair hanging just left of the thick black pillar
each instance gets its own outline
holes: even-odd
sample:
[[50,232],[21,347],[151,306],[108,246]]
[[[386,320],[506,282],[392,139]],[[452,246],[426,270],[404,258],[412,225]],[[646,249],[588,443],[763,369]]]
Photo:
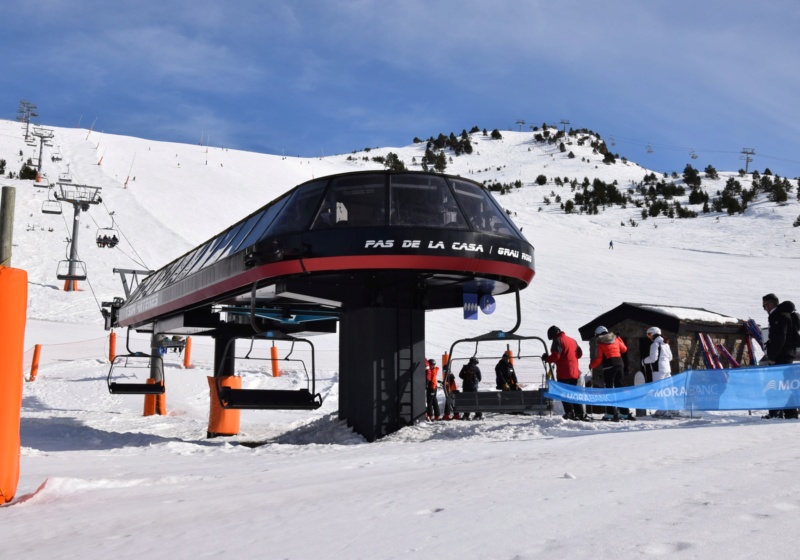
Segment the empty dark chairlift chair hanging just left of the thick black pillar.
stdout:
[[[316,410],[322,406],[322,395],[315,393],[316,376],[314,372],[314,345],[311,341],[304,338],[295,338],[281,333],[274,333],[279,340],[291,340],[291,348],[285,357],[280,358],[283,362],[299,362],[306,374],[306,387],[302,389],[233,389],[222,385],[223,376],[217,372],[214,376],[217,389],[217,397],[222,408],[229,409],[258,409],[258,410]],[[235,339],[228,341],[223,353],[221,363],[225,363],[225,356],[232,351]],[[296,342],[305,342],[311,348],[311,375],[305,367],[305,362],[301,359],[291,358]],[[251,338],[250,351],[244,359],[270,359],[270,358],[250,358],[252,352],[253,339]]]

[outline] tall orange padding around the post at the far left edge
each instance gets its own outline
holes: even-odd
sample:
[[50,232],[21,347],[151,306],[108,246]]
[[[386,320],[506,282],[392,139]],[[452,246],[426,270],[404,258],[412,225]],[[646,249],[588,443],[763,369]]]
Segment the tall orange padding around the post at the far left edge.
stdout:
[[0,266],[0,504],[14,499],[19,484],[19,423],[28,273]]

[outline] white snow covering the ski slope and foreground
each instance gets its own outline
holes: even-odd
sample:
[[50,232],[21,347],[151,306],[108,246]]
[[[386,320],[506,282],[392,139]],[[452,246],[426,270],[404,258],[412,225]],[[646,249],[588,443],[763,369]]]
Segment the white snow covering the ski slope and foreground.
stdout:
[[[113,268],[159,268],[300,182],[380,168],[377,155],[392,151],[419,167],[425,146],[298,159],[85,129],[54,134],[47,179],[68,171],[102,187],[103,204],[81,215],[89,280],[67,293],[55,272],[72,209],[42,214],[46,188],[0,179],[17,188],[12,266],[28,271],[25,348],[44,345],[38,379],[24,387],[21,478],[16,499],[0,509],[0,556],[750,558],[797,548],[800,423],[767,422],[759,411],[622,424],[488,415],[367,444],[336,420],[337,338],[327,335],[313,341],[326,397],[318,411],[243,411],[238,436],[206,439],[213,348],[194,337],[194,368],[167,354],[168,415],[143,417],[141,396],[106,389],[99,304],[123,295]],[[536,248],[521,332],[543,336],[557,324],[577,336],[623,301],[764,323],[762,295],[800,299],[796,181],[788,204],[761,198],[743,216],[643,221],[633,207],[566,216],[542,201],[551,192],[571,198],[570,187],[534,186],[539,174],[623,187],[648,171],[606,166],[588,147],[570,146],[577,157],[567,159],[531,133],[503,135],[475,135],[474,153],[453,157],[447,172],[524,185],[498,196]],[[61,161],[51,160],[56,149]],[[0,121],[8,170],[33,150],[18,123]],[[729,175],[704,186],[713,196]],[[112,224],[122,242],[98,248],[95,234]],[[427,353],[515,320],[512,296],[478,321],[457,309],[430,313]],[[133,349],[146,344],[132,335]],[[264,366],[243,370],[245,382],[264,382]],[[302,376],[289,369],[269,381]]]

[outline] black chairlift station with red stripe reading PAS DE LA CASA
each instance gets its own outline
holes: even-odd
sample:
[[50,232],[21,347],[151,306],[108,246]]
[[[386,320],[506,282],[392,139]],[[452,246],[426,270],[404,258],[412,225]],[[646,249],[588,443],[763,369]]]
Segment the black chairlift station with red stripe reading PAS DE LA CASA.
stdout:
[[[213,337],[209,386],[212,407],[218,401],[223,413],[319,407],[313,360],[306,388],[241,389],[233,342],[310,344],[309,335],[338,326],[339,418],[373,441],[424,418],[425,311],[467,314],[516,293],[519,326],[518,292],[533,276],[533,247],[480,184],[356,172],[295,187],[143,278],[127,299],[104,303],[103,312],[109,329]],[[111,377],[112,392],[150,392],[142,384],[112,388]],[[213,435],[228,434],[210,423]]]

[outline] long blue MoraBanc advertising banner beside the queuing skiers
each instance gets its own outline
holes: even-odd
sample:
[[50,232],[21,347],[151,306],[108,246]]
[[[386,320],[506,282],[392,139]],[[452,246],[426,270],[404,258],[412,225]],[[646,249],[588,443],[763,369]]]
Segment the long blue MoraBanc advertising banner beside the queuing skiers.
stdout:
[[688,370],[654,383],[617,389],[550,381],[545,396],[572,403],[656,410],[800,408],[800,364]]

